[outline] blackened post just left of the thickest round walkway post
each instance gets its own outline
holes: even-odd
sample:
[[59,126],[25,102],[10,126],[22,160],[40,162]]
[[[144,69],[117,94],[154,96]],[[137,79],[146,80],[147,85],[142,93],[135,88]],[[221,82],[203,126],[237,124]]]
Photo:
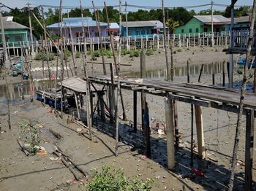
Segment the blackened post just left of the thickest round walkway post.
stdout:
[[148,102],[145,101],[145,114],[143,118],[145,125],[146,134],[146,156],[151,157],[151,145],[150,145],[150,126],[149,126],[149,112],[148,112]]

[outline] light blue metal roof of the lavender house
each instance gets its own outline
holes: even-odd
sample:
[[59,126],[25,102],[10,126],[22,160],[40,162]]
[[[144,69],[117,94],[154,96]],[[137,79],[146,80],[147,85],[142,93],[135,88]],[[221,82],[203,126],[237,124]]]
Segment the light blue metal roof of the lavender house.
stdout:
[[[62,25],[69,27],[82,27],[82,17],[71,17],[69,18],[63,18]],[[97,26],[97,23],[95,20],[92,20],[91,17],[84,17],[83,18],[83,24],[84,26]],[[99,22],[99,26],[108,26],[107,23]],[[54,23],[50,26],[47,26],[46,28],[59,28],[59,23]]]

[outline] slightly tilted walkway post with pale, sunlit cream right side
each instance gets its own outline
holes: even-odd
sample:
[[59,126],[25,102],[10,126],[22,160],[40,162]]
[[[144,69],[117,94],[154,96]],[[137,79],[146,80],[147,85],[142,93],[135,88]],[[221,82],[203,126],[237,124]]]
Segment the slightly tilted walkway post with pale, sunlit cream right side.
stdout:
[[206,147],[203,133],[203,115],[201,106],[197,105],[195,105],[195,123],[197,127],[198,155],[200,158],[204,159],[206,157]]

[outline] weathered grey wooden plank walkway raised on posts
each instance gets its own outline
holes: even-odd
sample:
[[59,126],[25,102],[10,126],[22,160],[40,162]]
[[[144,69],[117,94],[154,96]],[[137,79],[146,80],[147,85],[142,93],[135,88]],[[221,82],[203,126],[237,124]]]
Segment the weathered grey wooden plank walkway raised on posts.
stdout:
[[[108,76],[89,77],[90,82],[111,85]],[[144,93],[170,96],[173,100],[184,101],[200,106],[215,107],[217,109],[238,112],[240,91],[225,87],[206,86],[187,83],[165,82],[154,79],[121,78],[121,88],[142,91]],[[117,85],[117,82],[115,82]],[[244,107],[256,109],[256,94],[246,93]]]

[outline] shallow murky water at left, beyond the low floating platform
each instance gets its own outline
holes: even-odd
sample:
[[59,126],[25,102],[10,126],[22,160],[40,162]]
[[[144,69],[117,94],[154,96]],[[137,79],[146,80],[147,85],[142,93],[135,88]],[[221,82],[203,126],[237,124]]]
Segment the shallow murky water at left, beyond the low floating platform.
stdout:
[[[43,90],[50,88],[50,82],[48,80],[34,81],[34,91]],[[53,82],[51,82],[53,86]],[[21,98],[23,95],[30,95],[29,81],[17,82],[8,84],[8,91],[10,95],[10,100],[14,101]],[[7,93],[7,86],[0,85],[0,101],[5,101]]]

